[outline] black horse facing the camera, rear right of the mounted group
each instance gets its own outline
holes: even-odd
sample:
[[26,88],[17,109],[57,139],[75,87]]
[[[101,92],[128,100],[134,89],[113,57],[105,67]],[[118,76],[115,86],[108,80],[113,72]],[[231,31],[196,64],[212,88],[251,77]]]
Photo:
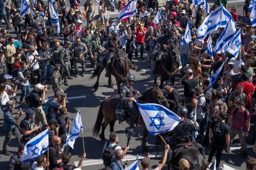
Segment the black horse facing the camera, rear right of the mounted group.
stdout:
[[157,73],[161,76],[160,89],[163,89],[164,81],[171,79],[172,85],[175,85],[175,74],[179,68],[179,55],[177,55],[177,49],[169,52],[159,52],[157,55],[162,55],[161,60],[157,63],[156,66],[158,70],[155,74],[154,83],[157,81]]

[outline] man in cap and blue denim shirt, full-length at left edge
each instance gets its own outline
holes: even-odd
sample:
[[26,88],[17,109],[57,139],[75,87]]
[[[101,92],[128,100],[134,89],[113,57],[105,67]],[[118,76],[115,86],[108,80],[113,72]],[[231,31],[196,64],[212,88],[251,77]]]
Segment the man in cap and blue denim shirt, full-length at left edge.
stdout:
[[[11,136],[15,136],[20,143],[21,134],[17,128],[17,124],[20,121],[20,117],[23,115],[22,111],[13,111],[14,103],[12,101],[6,102],[6,110],[4,111],[4,143],[3,143],[3,154],[4,155],[11,155],[10,152],[7,150],[7,145],[10,142]],[[17,117],[16,117],[17,115]]]

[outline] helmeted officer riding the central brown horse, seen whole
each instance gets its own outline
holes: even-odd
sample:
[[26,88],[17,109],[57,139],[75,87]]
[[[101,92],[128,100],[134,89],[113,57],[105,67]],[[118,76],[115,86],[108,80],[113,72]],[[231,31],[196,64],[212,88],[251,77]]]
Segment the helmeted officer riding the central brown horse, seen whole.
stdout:
[[120,99],[126,103],[127,108],[131,111],[131,118],[129,120],[130,129],[134,129],[134,124],[138,118],[138,110],[133,104],[134,96],[140,95],[140,92],[132,87],[134,81],[135,76],[129,74],[126,78],[126,83],[122,85],[120,90]]

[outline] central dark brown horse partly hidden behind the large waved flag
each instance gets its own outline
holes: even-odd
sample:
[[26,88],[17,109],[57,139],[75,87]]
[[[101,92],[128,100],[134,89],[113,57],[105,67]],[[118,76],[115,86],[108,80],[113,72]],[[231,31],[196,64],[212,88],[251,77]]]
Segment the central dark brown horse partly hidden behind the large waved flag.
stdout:
[[[110,125],[110,132],[114,132],[114,125],[116,122],[116,116],[115,116],[115,108],[116,108],[116,103],[120,100],[120,97],[118,95],[115,96],[110,96],[102,103],[100,104],[97,120],[95,122],[95,125],[93,127],[93,135],[100,136],[101,141],[105,141],[105,135],[104,131],[108,124]],[[163,92],[161,89],[158,87],[152,87],[148,89],[146,92],[142,94],[142,96],[138,99],[138,102],[143,102],[143,103],[157,103],[157,104],[163,104],[166,108],[168,108],[169,103],[164,99]],[[103,122],[104,119],[104,122]],[[102,123],[103,122],[103,123]],[[143,119],[140,118],[140,124],[143,125],[143,139],[142,139],[142,148],[143,148],[143,153],[145,155],[148,154],[147,150],[147,136],[148,136],[148,131],[147,128],[145,127],[145,124],[143,122]],[[101,133],[100,132],[101,129]]]

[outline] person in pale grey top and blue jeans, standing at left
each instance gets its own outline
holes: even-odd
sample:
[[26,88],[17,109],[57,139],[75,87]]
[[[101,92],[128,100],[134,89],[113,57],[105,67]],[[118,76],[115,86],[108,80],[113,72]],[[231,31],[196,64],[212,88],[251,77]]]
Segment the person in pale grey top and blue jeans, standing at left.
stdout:
[[20,69],[18,71],[19,85],[21,90],[20,104],[25,104],[25,99],[30,94],[29,72],[27,64],[24,61],[20,62]]

